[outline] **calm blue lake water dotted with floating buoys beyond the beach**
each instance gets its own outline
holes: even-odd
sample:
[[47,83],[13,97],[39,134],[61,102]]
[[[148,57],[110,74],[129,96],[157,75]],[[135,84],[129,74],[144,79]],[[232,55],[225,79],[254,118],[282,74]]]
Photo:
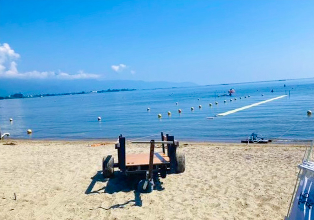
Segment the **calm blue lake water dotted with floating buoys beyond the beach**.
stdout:
[[[230,88],[236,93],[222,96]],[[272,102],[206,119],[286,93],[287,97]],[[314,113],[313,79],[11,99],[1,100],[0,106],[1,131],[12,138],[115,139],[123,134],[127,139],[154,139],[160,138],[161,131],[178,140],[199,141],[238,142],[253,132],[281,141],[314,138],[314,117],[306,114],[307,110]],[[29,128],[31,135],[26,134]]]

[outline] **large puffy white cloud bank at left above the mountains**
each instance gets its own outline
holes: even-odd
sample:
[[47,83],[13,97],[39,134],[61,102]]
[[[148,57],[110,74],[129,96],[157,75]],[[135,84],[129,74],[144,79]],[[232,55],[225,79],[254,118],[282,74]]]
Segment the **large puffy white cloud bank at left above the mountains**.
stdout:
[[[19,73],[17,69],[17,63],[14,60],[20,58],[20,55],[15,53],[14,50],[10,48],[10,45],[4,43],[0,44],[0,77],[3,78],[17,78],[17,79],[65,79],[65,80],[75,80],[75,79],[97,79],[100,75],[84,73],[84,71],[78,71],[78,74],[68,74],[59,71],[58,73],[54,71],[30,71],[25,73]],[[125,67],[124,67],[125,68]]]

